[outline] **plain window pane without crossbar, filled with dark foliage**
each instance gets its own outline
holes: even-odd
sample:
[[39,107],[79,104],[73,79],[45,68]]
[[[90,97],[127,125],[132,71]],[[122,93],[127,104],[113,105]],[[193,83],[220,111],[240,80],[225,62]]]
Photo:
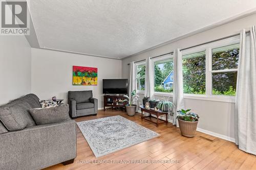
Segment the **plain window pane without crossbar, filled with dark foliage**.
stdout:
[[182,56],[183,91],[205,94],[205,51]]

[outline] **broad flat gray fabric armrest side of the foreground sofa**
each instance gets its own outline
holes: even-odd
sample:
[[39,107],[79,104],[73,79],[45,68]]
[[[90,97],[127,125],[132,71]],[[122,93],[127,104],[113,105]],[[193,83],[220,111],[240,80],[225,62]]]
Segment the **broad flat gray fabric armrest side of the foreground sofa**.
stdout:
[[68,120],[4,133],[0,143],[0,169],[45,168],[76,157],[76,123]]

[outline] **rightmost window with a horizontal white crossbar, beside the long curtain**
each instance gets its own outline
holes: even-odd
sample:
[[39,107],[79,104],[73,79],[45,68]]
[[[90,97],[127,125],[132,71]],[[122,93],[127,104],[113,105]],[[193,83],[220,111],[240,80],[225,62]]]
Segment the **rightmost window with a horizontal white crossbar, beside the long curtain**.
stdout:
[[236,95],[239,43],[211,50],[212,94]]

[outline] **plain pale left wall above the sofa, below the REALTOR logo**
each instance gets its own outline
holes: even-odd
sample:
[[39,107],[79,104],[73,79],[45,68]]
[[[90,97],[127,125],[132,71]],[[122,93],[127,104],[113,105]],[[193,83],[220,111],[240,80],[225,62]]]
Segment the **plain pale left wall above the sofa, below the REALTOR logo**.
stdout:
[[25,36],[0,37],[0,105],[31,91],[31,48]]

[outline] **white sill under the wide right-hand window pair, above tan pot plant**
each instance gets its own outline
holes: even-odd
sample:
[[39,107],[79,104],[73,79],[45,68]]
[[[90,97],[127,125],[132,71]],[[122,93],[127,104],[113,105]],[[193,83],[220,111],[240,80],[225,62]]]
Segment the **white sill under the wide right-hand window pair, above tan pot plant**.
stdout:
[[206,96],[206,95],[196,95],[196,94],[184,94],[184,99],[195,99],[195,100],[203,100],[203,101],[215,101],[215,102],[226,102],[226,103],[234,103],[234,96]]

